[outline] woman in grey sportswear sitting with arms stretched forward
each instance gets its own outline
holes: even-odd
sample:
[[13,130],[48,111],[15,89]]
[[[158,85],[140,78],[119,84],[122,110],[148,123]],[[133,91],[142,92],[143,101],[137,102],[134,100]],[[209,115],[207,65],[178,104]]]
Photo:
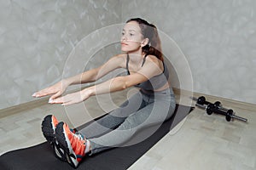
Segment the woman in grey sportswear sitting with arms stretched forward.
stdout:
[[[140,18],[128,20],[122,31],[121,49],[123,54],[113,56],[102,66],[33,94],[34,97],[51,95],[51,104],[72,105],[96,94],[112,93],[133,86],[140,88],[118,109],[79,132],[69,129],[67,123],[58,122],[55,116],[44,118],[44,137],[54,146],[55,155],[73,167],[78,167],[85,154],[93,155],[120,146],[139,129],[164,122],[175,109],[175,98],[168,83],[169,73],[163,62],[156,27]],[[69,85],[95,82],[118,68],[127,69],[127,76],[114,77],[60,97]]]

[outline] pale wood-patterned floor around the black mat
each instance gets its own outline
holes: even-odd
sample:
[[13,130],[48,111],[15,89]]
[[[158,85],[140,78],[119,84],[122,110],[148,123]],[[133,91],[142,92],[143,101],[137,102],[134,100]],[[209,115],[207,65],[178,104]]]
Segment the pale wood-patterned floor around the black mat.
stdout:
[[[44,142],[40,124],[48,114],[77,127],[113,110],[133,93],[131,89],[102,95],[69,107],[46,104],[4,116],[0,119],[0,154]],[[179,97],[189,99],[177,96],[177,101],[181,101]],[[249,122],[226,122],[224,116],[208,116],[196,108],[130,169],[256,169],[256,109],[237,102],[225,104]]]

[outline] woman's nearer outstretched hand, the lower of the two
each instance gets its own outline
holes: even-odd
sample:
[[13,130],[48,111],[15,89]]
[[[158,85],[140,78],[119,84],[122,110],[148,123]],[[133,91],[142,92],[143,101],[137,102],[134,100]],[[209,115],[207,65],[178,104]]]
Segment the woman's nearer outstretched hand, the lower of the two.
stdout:
[[91,93],[90,90],[84,89],[82,91],[73,93],[73,94],[67,94],[61,98],[52,99],[49,101],[50,104],[62,104],[62,105],[72,105],[77,104],[85,99],[88,99],[90,97]]

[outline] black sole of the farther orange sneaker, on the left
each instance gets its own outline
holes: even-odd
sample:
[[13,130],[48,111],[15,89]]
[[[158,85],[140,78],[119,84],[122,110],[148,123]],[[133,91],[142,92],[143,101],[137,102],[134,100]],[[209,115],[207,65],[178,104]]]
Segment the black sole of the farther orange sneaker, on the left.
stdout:
[[44,138],[52,146],[55,156],[61,161],[67,161],[64,150],[61,150],[59,144],[56,143],[55,130],[51,115],[44,117],[44,121],[42,122],[42,132],[44,134]]

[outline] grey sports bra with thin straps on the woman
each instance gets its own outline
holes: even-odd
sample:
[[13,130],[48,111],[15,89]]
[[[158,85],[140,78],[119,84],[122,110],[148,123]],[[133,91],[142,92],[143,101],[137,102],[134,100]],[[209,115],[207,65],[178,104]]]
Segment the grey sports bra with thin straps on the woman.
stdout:
[[[143,64],[145,63],[147,54],[143,59]],[[126,70],[127,70],[127,74],[130,75],[130,71],[128,69],[128,63],[129,63],[130,57],[129,54],[127,54],[127,59],[126,59]],[[163,62],[164,65],[164,71],[162,73],[160,73],[157,76],[151,77],[149,78],[147,81],[139,83],[137,85],[135,85],[135,87],[137,88],[143,88],[146,91],[154,91],[154,89],[158,89],[163,87],[166,82],[168,82],[168,78],[169,78],[169,71],[165,65],[165,63]]]

